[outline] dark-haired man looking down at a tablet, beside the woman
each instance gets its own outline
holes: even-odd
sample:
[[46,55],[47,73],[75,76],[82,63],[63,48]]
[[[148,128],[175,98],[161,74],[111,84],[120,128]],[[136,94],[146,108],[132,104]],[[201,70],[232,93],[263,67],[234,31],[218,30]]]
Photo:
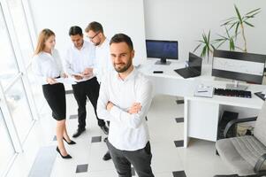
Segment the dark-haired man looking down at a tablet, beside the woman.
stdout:
[[80,27],[71,27],[69,35],[73,45],[66,52],[65,70],[77,81],[77,84],[72,85],[72,89],[79,106],[79,127],[73,137],[80,136],[86,129],[87,98],[94,107],[98,126],[101,127],[104,134],[108,135],[109,128],[105,126],[103,119],[98,118],[96,112],[100,85],[93,73],[93,68],[95,67],[95,47],[83,40],[83,33]]

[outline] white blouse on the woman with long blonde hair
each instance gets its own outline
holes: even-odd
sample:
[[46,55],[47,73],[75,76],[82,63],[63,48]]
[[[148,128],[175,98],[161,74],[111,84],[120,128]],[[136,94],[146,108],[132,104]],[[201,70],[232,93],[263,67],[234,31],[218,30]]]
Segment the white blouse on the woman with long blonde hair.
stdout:
[[63,73],[63,65],[58,50],[52,50],[51,54],[40,52],[35,55],[32,63],[36,80],[42,84],[49,84],[47,78],[56,78]]

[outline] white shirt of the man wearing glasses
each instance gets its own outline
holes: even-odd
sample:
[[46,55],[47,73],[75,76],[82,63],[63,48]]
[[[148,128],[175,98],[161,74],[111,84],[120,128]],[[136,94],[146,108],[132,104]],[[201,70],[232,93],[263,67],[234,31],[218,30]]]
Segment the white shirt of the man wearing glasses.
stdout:
[[100,46],[95,46],[95,68],[94,73],[97,81],[102,82],[103,75],[113,70],[113,65],[110,58],[109,40],[105,38]]

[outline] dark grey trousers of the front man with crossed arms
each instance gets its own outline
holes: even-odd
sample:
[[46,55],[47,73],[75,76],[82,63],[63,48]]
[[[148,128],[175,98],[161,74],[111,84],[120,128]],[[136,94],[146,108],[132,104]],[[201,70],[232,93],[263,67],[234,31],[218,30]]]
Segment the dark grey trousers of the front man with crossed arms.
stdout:
[[118,150],[109,141],[106,143],[119,177],[132,177],[131,164],[139,177],[154,177],[150,167],[152,155],[149,142],[145,148],[133,151]]

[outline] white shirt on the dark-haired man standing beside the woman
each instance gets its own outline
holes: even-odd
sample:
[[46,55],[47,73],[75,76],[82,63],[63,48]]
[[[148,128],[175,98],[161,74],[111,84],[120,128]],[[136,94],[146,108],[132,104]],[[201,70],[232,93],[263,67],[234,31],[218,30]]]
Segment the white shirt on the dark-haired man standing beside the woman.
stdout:
[[[72,44],[72,47],[66,51],[65,72],[69,75],[82,73],[87,67],[95,67],[95,46],[90,42],[84,41],[82,48],[78,50]],[[93,77],[95,77],[94,74],[79,81],[87,81]]]

